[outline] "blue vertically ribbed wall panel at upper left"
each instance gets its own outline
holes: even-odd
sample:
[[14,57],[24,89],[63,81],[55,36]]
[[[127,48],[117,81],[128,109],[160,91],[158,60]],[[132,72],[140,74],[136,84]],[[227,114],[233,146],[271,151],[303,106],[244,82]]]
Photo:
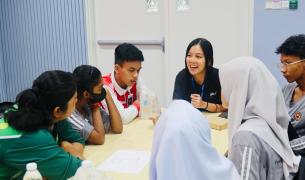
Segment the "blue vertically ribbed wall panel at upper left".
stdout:
[[46,70],[87,64],[84,1],[0,1],[7,100]]

